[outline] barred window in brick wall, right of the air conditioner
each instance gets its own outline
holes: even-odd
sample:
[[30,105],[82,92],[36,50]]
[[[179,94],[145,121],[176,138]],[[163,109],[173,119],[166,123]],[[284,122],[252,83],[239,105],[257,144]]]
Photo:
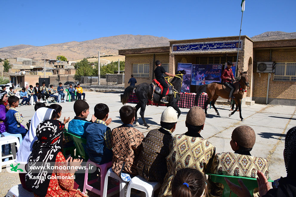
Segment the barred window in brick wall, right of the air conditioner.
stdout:
[[277,62],[274,81],[296,81],[296,62]]

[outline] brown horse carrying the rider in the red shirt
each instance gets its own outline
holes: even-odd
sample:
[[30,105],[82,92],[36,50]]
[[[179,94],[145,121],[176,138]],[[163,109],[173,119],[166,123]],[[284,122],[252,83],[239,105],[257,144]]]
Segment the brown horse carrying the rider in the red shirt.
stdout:
[[[238,90],[238,93],[232,94],[232,96],[234,97],[234,100],[236,102],[236,108],[231,114],[229,114],[229,117],[230,117],[239,109],[241,121],[243,121],[243,117],[241,116],[240,102],[241,102],[241,99],[243,98],[243,93],[246,91],[247,86],[249,87],[247,72],[248,71],[240,72],[240,75],[239,75],[240,80],[234,82],[234,83],[239,84],[239,90]],[[220,116],[217,108],[215,107],[215,102],[219,96],[222,98],[225,98],[225,99],[228,99],[228,96],[229,96],[229,92],[223,90],[222,84],[223,83],[213,82],[213,83],[202,85],[201,87],[199,87],[199,89],[196,93],[196,97],[195,97],[195,105],[197,105],[197,103],[198,103],[198,98],[199,98],[199,95],[201,94],[201,92],[205,91],[209,97],[208,100],[206,100],[206,102],[204,103],[205,113],[206,113],[207,105],[212,101],[211,104],[212,104],[213,108],[215,109],[217,115]],[[209,117],[209,115],[207,113],[206,113],[206,117]]]

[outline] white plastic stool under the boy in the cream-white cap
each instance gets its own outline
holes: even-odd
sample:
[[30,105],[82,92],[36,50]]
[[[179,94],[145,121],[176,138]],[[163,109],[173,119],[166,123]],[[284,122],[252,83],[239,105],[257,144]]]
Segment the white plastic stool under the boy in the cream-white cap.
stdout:
[[130,190],[132,188],[144,192],[146,197],[153,197],[153,193],[160,186],[161,184],[159,182],[147,182],[143,177],[138,175],[130,180],[129,185],[127,186],[127,197],[130,197]]

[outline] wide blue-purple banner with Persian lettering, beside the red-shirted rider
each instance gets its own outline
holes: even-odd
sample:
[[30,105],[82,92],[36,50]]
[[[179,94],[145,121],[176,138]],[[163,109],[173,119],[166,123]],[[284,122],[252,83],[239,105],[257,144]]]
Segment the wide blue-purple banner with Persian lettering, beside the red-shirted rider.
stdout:
[[222,64],[192,64],[191,85],[221,82]]

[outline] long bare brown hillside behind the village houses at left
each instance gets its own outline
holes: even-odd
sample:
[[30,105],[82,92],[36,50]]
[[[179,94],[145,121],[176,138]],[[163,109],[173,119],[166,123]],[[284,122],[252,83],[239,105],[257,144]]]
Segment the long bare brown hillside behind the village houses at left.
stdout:
[[16,45],[0,48],[0,58],[55,59],[64,55],[68,60],[97,56],[98,50],[105,55],[118,55],[118,49],[169,46],[169,39],[152,35],[116,35],[88,41],[72,41],[45,46]]

